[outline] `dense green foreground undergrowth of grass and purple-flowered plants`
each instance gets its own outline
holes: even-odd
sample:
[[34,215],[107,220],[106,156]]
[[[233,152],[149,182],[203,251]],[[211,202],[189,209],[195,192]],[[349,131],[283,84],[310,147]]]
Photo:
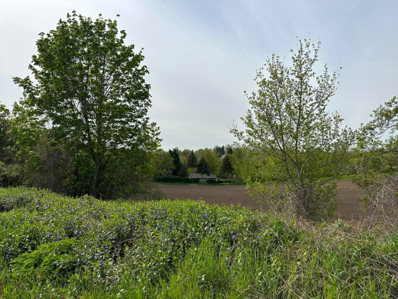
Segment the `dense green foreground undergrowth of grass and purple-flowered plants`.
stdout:
[[0,189],[1,298],[398,298],[398,233]]

